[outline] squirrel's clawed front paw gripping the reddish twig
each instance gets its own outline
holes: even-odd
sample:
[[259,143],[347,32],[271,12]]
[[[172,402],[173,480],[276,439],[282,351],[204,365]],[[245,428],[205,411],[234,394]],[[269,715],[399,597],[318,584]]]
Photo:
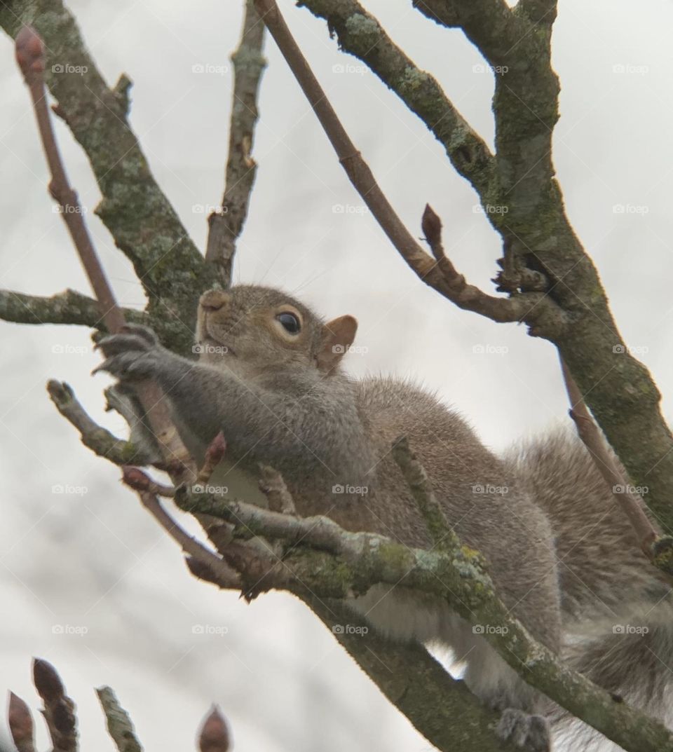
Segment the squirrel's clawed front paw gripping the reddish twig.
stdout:
[[96,349],[105,360],[92,373],[108,371],[120,381],[153,378],[165,353],[152,329],[140,324],[126,324],[119,334],[103,337]]

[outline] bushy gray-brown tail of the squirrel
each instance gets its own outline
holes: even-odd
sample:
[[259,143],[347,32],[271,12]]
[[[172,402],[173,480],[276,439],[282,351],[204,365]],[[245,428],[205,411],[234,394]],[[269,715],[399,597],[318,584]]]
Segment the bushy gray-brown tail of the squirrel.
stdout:
[[584,444],[559,429],[514,447],[505,461],[552,524],[565,660],[666,720],[673,684],[673,594],[641,553]]

